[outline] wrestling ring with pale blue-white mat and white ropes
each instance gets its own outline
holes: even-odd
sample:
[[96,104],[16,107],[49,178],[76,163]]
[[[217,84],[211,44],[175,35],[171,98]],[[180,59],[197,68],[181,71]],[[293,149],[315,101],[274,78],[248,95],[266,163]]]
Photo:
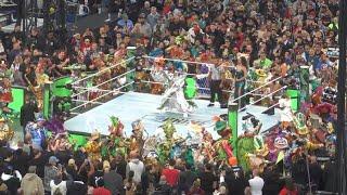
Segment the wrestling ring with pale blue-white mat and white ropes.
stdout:
[[[156,57],[143,56],[145,60],[155,60]],[[163,125],[164,121],[171,119],[176,126],[177,132],[183,138],[191,130],[190,123],[195,122],[204,127],[207,131],[209,131],[214,138],[218,138],[217,132],[214,131],[214,116],[227,115],[230,113],[230,107],[220,108],[220,107],[207,107],[209,104],[208,100],[195,99],[192,101],[195,103],[196,108],[193,112],[184,113],[180,110],[165,110],[158,109],[160,102],[164,99],[164,95],[160,94],[150,94],[144,92],[136,92],[133,91],[133,86],[138,83],[138,81],[133,80],[133,75],[136,74],[136,68],[128,68],[125,73],[119,74],[113,78],[110,78],[101,83],[94,86],[82,84],[86,80],[93,79],[95,77],[102,77],[107,70],[115,68],[119,65],[124,65],[124,63],[128,63],[132,61],[133,57],[125,60],[118,64],[114,64],[108,66],[107,68],[98,72],[95,74],[89,75],[82,79],[75,80],[73,82],[73,91],[72,95],[72,107],[69,109],[72,117],[67,119],[64,123],[65,128],[74,133],[81,134],[90,134],[95,130],[101,134],[107,135],[110,117],[116,116],[119,117],[121,122],[125,125],[125,134],[130,135],[132,128],[131,122],[134,120],[141,119],[143,121],[144,128],[146,129],[150,135],[158,134],[158,128]],[[179,61],[171,58],[160,58],[164,61]],[[184,61],[180,61],[184,62]],[[200,62],[187,62],[192,64],[204,64]],[[153,72],[153,68],[149,67],[149,72]],[[190,74],[192,75],[192,74]],[[196,78],[206,78],[208,74],[195,75]],[[257,95],[257,92],[270,83],[273,83],[281,78],[275,78],[270,80],[264,84],[260,84],[258,88],[245,93],[240,96],[244,98],[246,95]],[[116,82],[116,83],[115,83]],[[160,80],[142,80],[141,83],[158,83],[163,84]],[[105,84],[112,86],[112,89],[104,89]],[[203,91],[209,91],[208,87],[196,87],[196,89]],[[242,118],[246,115],[254,115],[259,120],[262,121],[262,127],[260,132],[268,131],[269,129],[275,127],[279,123],[279,109],[275,107],[277,104],[272,106],[261,106],[257,105],[259,102],[265,99],[272,98],[275,93],[282,93],[286,89],[286,86],[272,91],[268,94],[262,94],[260,99],[257,99],[254,102],[250,102],[245,107],[239,108],[236,112],[236,127],[237,134],[242,134]],[[224,91],[228,93],[232,93],[232,91]],[[89,99],[93,94],[92,99]],[[95,95],[97,94],[97,95]],[[259,94],[258,94],[259,95]],[[232,96],[232,95],[231,95]],[[230,100],[229,105],[233,105],[237,100]],[[267,110],[272,109],[272,114],[267,114]],[[229,118],[230,119],[230,118]]]

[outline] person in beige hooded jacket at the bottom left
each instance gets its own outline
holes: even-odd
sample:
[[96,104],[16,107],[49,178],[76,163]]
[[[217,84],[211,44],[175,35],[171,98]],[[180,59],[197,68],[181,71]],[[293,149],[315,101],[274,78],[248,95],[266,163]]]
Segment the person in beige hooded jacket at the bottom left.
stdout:
[[22,180],[21,188],[23,195],[43,195],[43,183],[41,178],[36,174],[36,166],[30,166],[28,173],[26,173]]

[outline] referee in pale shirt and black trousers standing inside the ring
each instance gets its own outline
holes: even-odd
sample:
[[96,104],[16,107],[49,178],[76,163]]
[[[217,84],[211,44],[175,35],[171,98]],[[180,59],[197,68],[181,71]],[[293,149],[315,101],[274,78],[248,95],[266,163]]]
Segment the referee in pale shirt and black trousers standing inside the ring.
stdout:
[[216,94],[218,98],[218,102],[220,106],[222,107],[222,74],[223,74],[223,67],[220,66],[220,63],[216,63],[210,65],[210,70],[209,70],[209,89],[210,89],[210,100],[208,106],[214,106],[215,105],[215,99]]

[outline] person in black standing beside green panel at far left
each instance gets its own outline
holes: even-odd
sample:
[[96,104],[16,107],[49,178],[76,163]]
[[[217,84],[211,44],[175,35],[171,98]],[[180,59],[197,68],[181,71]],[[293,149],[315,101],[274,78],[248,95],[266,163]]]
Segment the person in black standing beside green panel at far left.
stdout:
[[28,122],[35,121],[35,113],[38,113],[38,107],[29,96],[25,98],[25,104],[21,108],[21,126],[23,127],[24,136],[26,134],[25,127]]

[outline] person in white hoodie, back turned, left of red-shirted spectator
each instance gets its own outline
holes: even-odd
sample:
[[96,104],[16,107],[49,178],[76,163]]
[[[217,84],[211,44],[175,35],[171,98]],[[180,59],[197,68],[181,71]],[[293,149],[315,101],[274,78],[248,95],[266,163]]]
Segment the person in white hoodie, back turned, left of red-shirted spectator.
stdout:
[[144,172],[144,164],[139,159],[139,154],[134,151],[130,152],[130,161],[127,165],[127,176],[129,171],[133,171],[133,181],[139,184],[141,183],[141,176]]

